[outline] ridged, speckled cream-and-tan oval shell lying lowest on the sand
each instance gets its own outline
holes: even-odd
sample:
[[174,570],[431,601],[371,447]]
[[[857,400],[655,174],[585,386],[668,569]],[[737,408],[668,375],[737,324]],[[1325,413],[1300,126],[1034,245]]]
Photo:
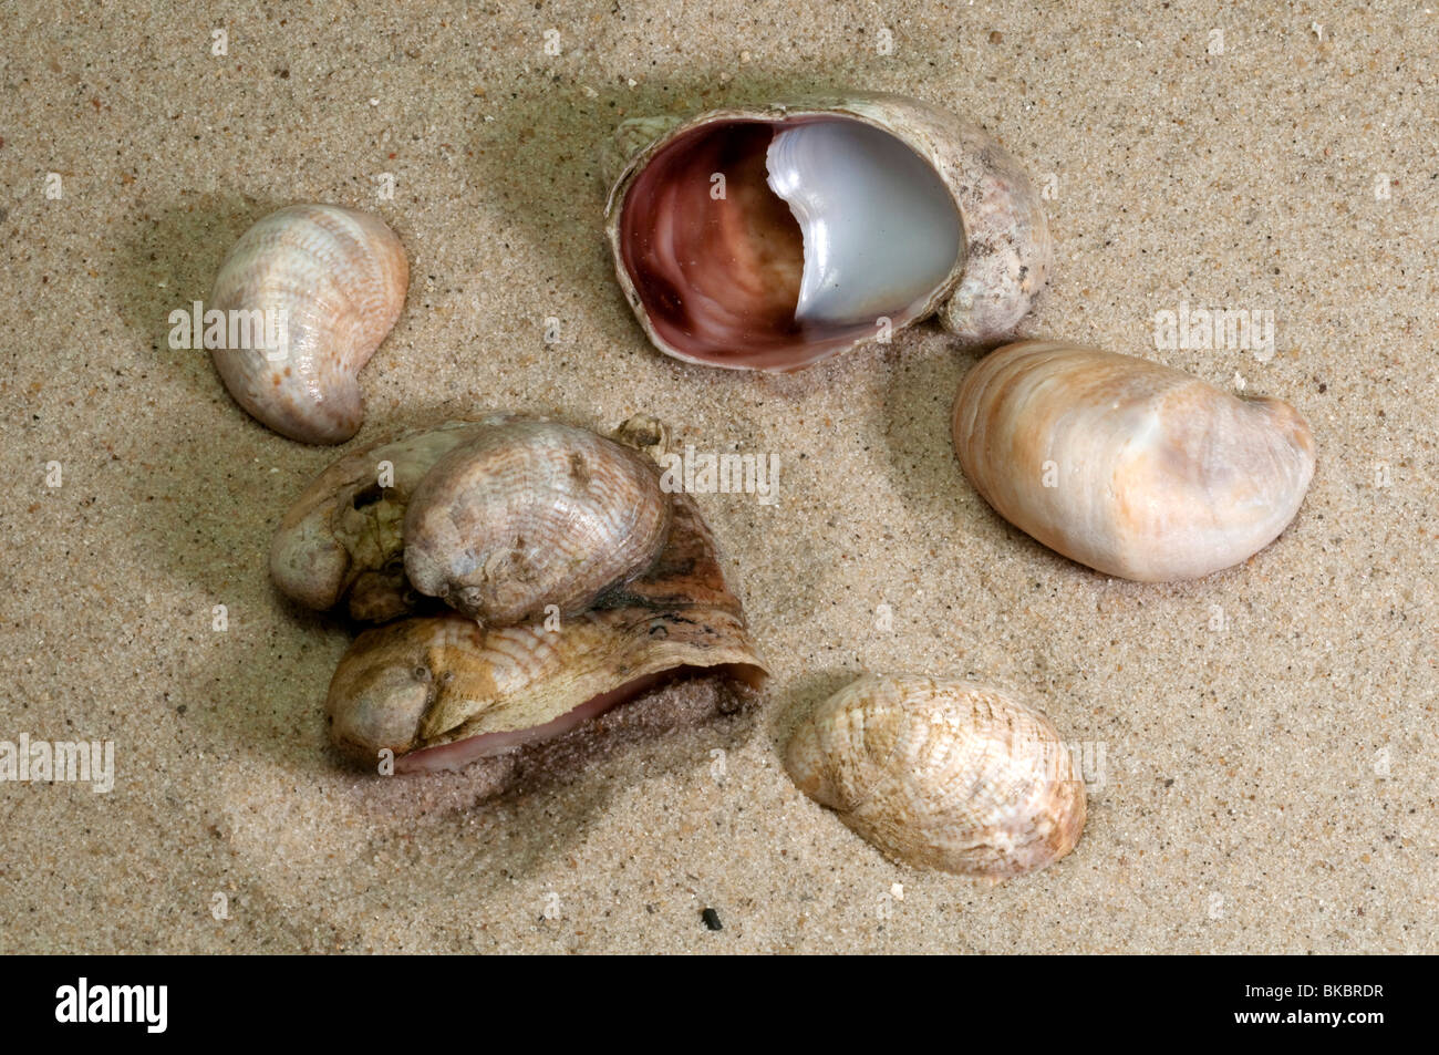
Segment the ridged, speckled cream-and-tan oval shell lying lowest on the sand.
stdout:
[[796,728],[784,766],[917,868],[1020,875],[1072,851],[1085,822],[1084,782],[1049,720],[968,681],[865,675]]

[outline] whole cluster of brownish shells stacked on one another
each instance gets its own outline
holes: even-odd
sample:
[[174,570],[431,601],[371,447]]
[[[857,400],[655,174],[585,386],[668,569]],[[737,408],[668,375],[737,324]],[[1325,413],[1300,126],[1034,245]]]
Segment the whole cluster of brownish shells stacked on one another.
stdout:
[[345,455],[285,515],[271,577],[378,623],[327,712],[342,753],[399,773],[543,746],[682,675],[715,675],[720,710],[766,678],[692,499],[563,422],[494,413]]

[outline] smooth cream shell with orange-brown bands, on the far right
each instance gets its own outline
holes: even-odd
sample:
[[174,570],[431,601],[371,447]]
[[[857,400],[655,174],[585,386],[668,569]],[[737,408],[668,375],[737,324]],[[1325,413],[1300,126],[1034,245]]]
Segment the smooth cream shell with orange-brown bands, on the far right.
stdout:
[[1207,576],[1272,543],[1315,456],[1309,426],[1282,400],[1055,341],[1010,344],[966,374],[954,449],[1010,524],[1141,581]]

